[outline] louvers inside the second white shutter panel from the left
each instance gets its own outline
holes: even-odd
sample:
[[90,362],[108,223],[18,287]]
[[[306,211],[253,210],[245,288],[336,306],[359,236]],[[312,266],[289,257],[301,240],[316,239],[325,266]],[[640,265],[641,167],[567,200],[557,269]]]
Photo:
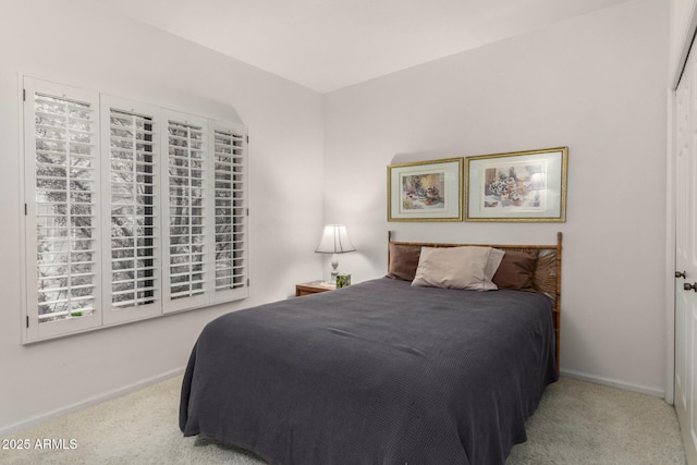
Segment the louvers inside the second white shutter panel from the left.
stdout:
[[157,219],[154,121],[110,109],[111,304],[156,302]]

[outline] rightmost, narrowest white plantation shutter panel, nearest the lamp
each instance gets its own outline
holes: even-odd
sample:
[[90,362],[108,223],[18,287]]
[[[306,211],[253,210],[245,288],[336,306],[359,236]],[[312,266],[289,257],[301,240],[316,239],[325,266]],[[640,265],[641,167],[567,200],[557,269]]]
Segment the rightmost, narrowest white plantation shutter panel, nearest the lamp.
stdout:
[[216,302],[248,295],[246,131],[213,130]]

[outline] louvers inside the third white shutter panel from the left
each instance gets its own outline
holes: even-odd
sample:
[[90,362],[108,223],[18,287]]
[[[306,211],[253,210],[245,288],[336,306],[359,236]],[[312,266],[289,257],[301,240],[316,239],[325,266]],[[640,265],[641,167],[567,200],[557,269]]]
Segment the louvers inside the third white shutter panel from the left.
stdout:
[[205,286],[206,146],[204,129],[169,121],[169,295],[201,295]]

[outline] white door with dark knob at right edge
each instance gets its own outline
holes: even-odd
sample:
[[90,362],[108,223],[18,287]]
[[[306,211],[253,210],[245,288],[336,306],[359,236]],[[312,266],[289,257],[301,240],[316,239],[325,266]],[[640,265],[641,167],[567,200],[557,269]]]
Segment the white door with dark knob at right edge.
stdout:
[[687,463],[697,465],[697,51],[674,95],[675,411]]

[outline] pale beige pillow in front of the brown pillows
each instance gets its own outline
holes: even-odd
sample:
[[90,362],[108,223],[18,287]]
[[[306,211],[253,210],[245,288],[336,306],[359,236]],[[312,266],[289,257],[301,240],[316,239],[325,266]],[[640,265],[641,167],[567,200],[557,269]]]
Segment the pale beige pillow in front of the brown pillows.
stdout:
[[[491,247],[421,247],[412,285],[492,291],[491,282],[503,255],[491,257]],[[497,258],[498,257],[498,258]]]

